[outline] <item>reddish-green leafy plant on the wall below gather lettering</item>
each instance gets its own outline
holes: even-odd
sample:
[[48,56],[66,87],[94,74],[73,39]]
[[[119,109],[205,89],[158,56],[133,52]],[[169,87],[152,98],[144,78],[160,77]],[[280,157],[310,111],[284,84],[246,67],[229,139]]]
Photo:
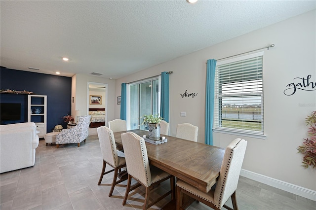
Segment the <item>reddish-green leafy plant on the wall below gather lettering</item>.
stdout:
[[316,168],[316,111],[313,111],[311,116],[307,116],[305,122],[309,126],[307,132],[309,138],[304,139],[303,144],[298,146],[297,150],[304,155],[302,166],[306,169],[313,166],[314,169]]

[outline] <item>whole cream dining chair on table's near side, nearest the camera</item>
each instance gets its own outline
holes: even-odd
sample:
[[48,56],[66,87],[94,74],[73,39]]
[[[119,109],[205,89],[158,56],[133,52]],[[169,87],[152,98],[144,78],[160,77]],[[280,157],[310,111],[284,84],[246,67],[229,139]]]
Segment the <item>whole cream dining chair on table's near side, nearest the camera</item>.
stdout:
[[[124,147],[128,174],[125,197],[122,203],[123,206],[126,204],[129,192],[141,185],[146,188],[143,210],[147,210],[169,194],[171,194],[171,200],[173,200],[175,194],[174,176],[149,164],[145,140],[132,132],[121,134],[121,139]],[[130,185],[132,178],[135,179],[138,183],[131,187]],[[159,185],[161,182],[169,178],[170,191],[164,193],[155,201],[149,204],[151,190]]]

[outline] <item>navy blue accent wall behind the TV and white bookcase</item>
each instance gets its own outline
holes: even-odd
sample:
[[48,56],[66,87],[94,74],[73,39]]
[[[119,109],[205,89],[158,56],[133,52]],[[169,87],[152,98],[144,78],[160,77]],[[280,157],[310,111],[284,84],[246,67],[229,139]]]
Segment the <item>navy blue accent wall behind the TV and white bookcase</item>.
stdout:
[[[67,128],[62,117],[71,115],[71,77],[55,76],[22,70],[11,70],[1,67],[0,89],[26,90],[36,95],[47,95],[47,133],[55,125],[62,124]],[[0,94],[1,103],[21,103],[21,120],[5,121],[6,124],[27,122],[27,100],[24,94]],[[2,123],[2,122],[1,122]]]

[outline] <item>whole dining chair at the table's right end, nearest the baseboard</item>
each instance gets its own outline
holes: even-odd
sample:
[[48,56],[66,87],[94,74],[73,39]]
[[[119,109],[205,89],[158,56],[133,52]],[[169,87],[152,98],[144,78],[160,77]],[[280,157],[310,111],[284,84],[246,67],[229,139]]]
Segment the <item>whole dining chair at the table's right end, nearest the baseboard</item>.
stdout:
[[216,184],[212,186],[208,193],[201,192],[184,181],[177,181],[177,210],[183,209],[183,194],[189,195],[191,198],[214,210],[221,210],[222,207],[233,210],[225,205],[226,201],[231,197],[233,208],[237,210],[236,189],[246,147],[247,141],[243,139],[235,139],[226,147],[220,175]]

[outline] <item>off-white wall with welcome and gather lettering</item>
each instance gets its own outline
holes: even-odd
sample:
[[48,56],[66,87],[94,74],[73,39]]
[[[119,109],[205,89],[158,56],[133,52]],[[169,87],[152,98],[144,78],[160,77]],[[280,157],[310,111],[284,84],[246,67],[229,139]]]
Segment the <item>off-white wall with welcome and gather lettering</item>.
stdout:
[[[210,35],[211,36],[211,35]],[[264,50],[264,117],[266,139],[246,138],[248,147],[242,168],[294,185],[316,190],[316,170],[301,166],[303,156],[297,147],[307,137],[305,117],[316,110],[316,91],[297,91],[285,96],[286,85],[295,77],[312,75],[316,82],[316,11],[276,23],[223,43],[205,48],[187,56],[160,64],[147,70],[120,78],[116,83],[116,96],[120,84],[172,70],[170,75],[171,136],[176,125],[190,122],[199,128],[198,141],[204,142],[206,60],[258,49],[274,43]],[[195,98],[181,98],[185,90],[198,93]],[[115,117],[119,118],[119,105]],[[186,111],[186,117],[180,117]],[[240,136],[214,133],[214,145],[226,147]]]

